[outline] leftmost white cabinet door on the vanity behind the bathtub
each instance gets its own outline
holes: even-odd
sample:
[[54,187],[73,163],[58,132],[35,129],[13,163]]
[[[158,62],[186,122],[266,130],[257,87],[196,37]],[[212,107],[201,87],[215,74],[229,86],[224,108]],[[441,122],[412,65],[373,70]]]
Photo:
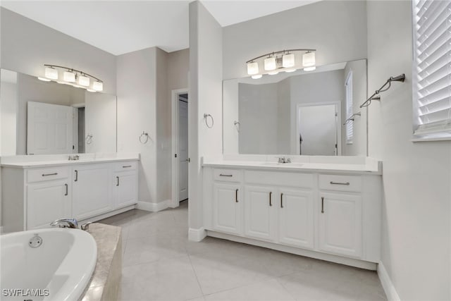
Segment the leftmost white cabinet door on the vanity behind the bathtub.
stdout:
[[66,180],[27,186],[27,230],[70,217],[70,190]]

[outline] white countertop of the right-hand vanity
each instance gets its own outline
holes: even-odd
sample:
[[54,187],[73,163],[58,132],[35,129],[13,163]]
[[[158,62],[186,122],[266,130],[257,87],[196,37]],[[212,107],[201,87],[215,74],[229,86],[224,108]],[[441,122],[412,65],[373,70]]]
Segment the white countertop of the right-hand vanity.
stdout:
[[[208,158],[205,157],[202,166],[217,168],[252,168],[269,171],[305,171],[305,172],[330,172],[330,173],[371,173],[382,174],[382,162],[369,157],[330,157],[323,156],[295,156],[292,163],[278,163],[264,158],[251,160],[243,158],[242,160],[233,158]],[[272,158],[271,158],[272,159]]]

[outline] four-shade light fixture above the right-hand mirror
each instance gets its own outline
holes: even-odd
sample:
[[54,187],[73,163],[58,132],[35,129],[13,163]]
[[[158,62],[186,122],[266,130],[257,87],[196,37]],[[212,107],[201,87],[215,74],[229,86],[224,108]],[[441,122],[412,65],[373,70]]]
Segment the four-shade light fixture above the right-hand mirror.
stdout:
[[[302,54],[302,66],[300,63],[296,63],[295,54],[293,54],[293,52],[299,51],[304,52]],[[315,70],[315,51],[316,49],[288,49],[257,56],[246,62],[247,74],[257,79],[264,74],[276,75],[280,71],[293,72],[298,68],[304,68],[304,71]],[[263,67],[261,70],[264,70],[264,72],[259,72],[259,65]]]

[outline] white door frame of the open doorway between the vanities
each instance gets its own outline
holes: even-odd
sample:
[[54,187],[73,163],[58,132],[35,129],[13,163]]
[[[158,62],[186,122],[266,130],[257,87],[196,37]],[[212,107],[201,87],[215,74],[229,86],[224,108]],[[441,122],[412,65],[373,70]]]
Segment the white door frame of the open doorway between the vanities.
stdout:
[[[176,208],[180,203],[180,183],[179,183],[179,168],[178,168],[178,96],[180,94],[188,94],[188,99],[190,95],[190,90],[188,88],[175,89],[171,91],[171,125],[172,125],[172,189],[171,189],[171,204],[170,207]],[[189,102],[188,102],[189,105]],[[188,116],[188,118],[190,118]],[[188,121],[189,124],[189,121]],[[189,155],[188,155],[189,156]]]

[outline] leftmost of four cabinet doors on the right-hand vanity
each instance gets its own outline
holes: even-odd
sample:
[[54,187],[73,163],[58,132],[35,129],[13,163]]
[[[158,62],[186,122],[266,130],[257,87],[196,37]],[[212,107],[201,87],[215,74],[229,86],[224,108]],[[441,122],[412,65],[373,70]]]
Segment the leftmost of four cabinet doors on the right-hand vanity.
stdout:
[[239,185],[214,184],[213,223],[215,230],[234,234],[242,233],[240,201]]

